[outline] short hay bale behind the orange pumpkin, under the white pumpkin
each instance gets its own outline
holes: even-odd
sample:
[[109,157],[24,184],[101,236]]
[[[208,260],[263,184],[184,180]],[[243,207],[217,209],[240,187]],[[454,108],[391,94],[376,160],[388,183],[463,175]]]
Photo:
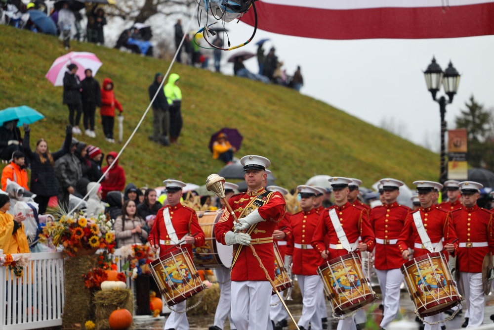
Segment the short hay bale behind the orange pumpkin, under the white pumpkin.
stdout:
[[[111,289],[97,291],[93,297],[95,306],[96,330],[110,329],[108,318],[118,308],[125,308],[131,314],[134,311],[134,295],[131,289]],[[131,326],[129,329],[133,329]]]

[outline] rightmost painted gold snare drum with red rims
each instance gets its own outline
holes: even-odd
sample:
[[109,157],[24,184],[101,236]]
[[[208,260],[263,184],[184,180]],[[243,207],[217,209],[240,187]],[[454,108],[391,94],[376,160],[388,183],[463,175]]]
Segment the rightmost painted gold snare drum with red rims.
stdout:
[[406,262],[401,271],[421,317],[451,309],[461,302],[448,262],[441,253],[429,253]]

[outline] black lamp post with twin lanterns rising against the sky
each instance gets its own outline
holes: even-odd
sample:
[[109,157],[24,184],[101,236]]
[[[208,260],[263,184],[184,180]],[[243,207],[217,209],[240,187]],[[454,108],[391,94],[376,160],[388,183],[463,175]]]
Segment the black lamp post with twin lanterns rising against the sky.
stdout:
[[[439,111],[441,114],[441,174],[439,176],[439,182],[444,184],[448,180],[448,171],[446,167],[446,147],[444,143],[444,135],[446,133],[446,121],[444,116],[446,114],[446,104],[453,102],[453,96],[458,90],[460,83],[460,75],[458,71],[453,67],[450,61],[448,68],[443,72],[439,64],[436,63],[436,59],[433,57],[431,64],[424,71],[425,83],[427,89],[432,94],[432,99],[439,103]],[[436,98],[437,92],[441,89],[441,85],[444,87],[444,92],[448,95],[449,100],[446,100],[445,96]]]

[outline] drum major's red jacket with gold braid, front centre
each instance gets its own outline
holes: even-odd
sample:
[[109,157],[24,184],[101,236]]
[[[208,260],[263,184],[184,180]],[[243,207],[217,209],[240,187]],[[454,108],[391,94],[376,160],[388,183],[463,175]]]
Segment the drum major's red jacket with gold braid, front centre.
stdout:
[[[257,223],[254,230],[251,231],[252,246],[262,261],[263,266],[267,269],[271,279],[274,279],[275,255],[273,250],[272,239],[273,231],[278,223],[283,219],[286,212],[285,198],[279,192],[271,192],[263,196],[266,190],[264,188],[255,191],[247,191],[233,195],[228,203],[235,212],[237,218],[247,209],[255,209],[254,203],[259,199],[264,201],[257,210],[259,215],[265,220]],[[251,211],[250,211],[251,212]],[[227,210],[223,213],[220,220],[214,226],[214,235],[216,240],[226,245],[225,234],[232,231],[234,219]],[[256,244],[256,239],[262,239],[262,244]],[[239,251],[240,250],[240,251]],[[235,258],[236,257],[236,258]],[[249,246],[234,244],[233,263],[232,263],[232,281],[268,281],[266,274],[259,266],[259,262],[252,254]]]

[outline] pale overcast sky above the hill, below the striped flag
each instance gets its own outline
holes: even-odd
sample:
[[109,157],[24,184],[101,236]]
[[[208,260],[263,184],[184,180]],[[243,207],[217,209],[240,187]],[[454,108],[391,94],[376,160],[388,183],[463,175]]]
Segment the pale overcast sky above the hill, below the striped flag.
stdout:
[[[235,22],[226,25],[233,45],[247,40],[252,27]],[[439,104],[427,91],[423,71],[435,56],[443,68],[451,59],[461,74],[458,94],[447,106],[448,128],[473,94],[486,108],[494,106],[494,36],[422,40],[320,40],[278,35],[257,30],[253,42],[224,53],[223,71],[233,73],[226,58],[236,51],[256,52],[256,41],[269,38],[284,68],[292,74],[301,66],[301,93],[344,110],[373,125],[394,121],[406,138],[439,150]],[[257,59],[245,62],[258,70]],[[438,96],[443,95],[443,90]],[[303,104],[301,104],[303,107]],[[351,132],[351,128],[348,128]]]

